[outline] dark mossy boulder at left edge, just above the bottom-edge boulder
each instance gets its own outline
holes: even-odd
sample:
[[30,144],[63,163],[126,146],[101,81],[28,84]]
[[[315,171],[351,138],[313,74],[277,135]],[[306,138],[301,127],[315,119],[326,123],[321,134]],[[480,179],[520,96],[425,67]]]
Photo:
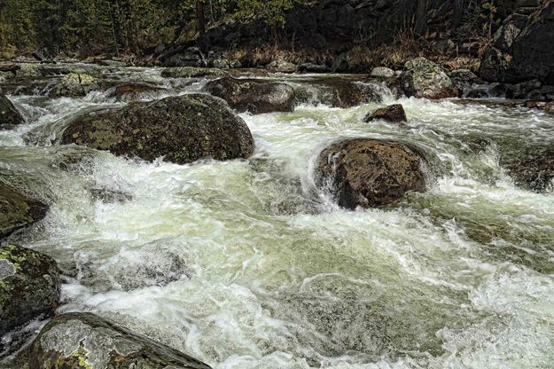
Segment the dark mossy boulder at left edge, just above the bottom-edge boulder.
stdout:
[[13,245],[0,246],[0,336],[59,304],[59,270],[48,255]]

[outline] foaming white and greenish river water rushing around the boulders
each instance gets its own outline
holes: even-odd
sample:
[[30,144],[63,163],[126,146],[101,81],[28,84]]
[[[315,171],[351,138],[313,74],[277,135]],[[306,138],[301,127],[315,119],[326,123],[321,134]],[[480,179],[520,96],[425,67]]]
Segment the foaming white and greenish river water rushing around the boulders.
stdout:
[[[155,69],[121,78],[168,94],[203,85]],[[51,207],[12,239],[59,262],[59,312],[97,312],[218,369],[551,368],[554,193],[515,186],[495,142],[554,145],[554,116],[401,98],[406,127],[363,123],[394,102],[380,93],[241,114],[254,156],[190,165],[58,145],[74,114],[123,104],[105,93],[12,96],[29,123],[0,131],[0,174]],[[338,208],[313,162],[339,137],[419,145],[427,192]],[[488,145],[472,149],[476,138]]]

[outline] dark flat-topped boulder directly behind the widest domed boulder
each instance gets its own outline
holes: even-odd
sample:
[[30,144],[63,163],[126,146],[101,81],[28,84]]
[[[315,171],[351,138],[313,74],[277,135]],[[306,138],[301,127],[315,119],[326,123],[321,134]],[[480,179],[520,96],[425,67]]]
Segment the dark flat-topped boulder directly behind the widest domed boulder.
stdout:
[[285,83],[225,77],[207,82],[206,90],[225,99],[238,112],[263,114],[294,110],[294,90]]

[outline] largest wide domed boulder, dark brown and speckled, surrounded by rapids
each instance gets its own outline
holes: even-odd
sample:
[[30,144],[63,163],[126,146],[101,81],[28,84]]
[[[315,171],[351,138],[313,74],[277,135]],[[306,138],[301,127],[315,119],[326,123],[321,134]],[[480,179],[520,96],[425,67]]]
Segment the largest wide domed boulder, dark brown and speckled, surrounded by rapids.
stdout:
[[202,158],[231,160],[254,152],[246,123],[220,98],[190,94],[82,115],[62,144],[85,145],[146,161],[184,164]]

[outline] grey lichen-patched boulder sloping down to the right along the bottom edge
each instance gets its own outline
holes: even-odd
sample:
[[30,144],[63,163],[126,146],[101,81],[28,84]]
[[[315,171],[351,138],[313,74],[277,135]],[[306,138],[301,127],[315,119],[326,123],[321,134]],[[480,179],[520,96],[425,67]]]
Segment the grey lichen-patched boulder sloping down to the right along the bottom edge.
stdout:
[[210,368],[183,352],[86,312],[52,318],[23,355],[32,369]]

